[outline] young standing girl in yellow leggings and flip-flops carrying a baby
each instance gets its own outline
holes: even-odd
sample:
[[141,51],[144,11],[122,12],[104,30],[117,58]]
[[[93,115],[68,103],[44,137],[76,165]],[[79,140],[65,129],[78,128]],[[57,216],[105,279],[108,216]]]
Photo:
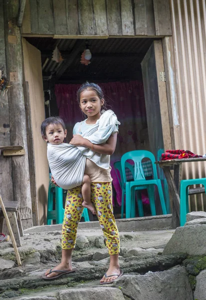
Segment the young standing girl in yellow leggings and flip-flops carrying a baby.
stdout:
[[[73,129],[73,138],[70,143],[76,146],[84,146],[99,153],[99,159],[103,163],[110,161],[117,142],[116,133],[112,133],[103,144],[94,144],[81,136],[88,127],[95,126],[101,115],[101,108],[104,105],[102,89],[95,83],[84,83],[77,92],[77,99],[83,113],[87,119],[76,123]],[[85,167],[85,174],[91,180],[91,201],[96,208],[100,226],[103,230],[108,252],[110,254],[110,265],[108,271],[100,280],[101,284],[111,283],[123,274],[119,268],[120,240],[116,221],[112,207],[112,178],[111,167],[101,168],[89,159],[89,165]],[[62,260],[53,269],[47,270],[44,279],[54,279],[64,273],[74,271],[71,265],[72,250],[75,246],[77,225],[81,218],[82,207],[77,204],[82,203],[81,186],[74,187],[67,192],[64,221],[62,225]],[[76,207],[76,208],[75,208]]]

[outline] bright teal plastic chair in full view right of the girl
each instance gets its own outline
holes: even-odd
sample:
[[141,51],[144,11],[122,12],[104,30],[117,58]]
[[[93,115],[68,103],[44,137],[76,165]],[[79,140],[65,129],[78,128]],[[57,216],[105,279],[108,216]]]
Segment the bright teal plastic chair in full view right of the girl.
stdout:
[[[144,171],[143,171],[143,167],[142,167],[142,159],[143,158],[149,158],[152,162],[153,179],[149,179],[149,180],[145,179],[145,175],[144,175]],[[134,181],[128,181],[126,178],[125,162],[128,159],[132,159],[135,163]],[[127,152],[122,155],[121,167],[122,167],[124,182],[126,185],[126,188],[125,188],[126,218],[131,217],[131,214],[135,215],[135,201],[134,201],[134,197],[131,197],[131,191],[134,192],[135,187],[138,187],[139,189],[147,188],[148,196],[150,199],[151,213],[152,213],[152,215],[156,215],[154,185],[157,185],[157,187],[158,187],[163,214],[167,214],[162,184],[161,184],[161,180],[158,179],[158,176],[157,176],[157,168],[155,165],[155,156],[153,155],[153,153],[150,151],[147,151],[147,150],[134,150],[134,151]]]

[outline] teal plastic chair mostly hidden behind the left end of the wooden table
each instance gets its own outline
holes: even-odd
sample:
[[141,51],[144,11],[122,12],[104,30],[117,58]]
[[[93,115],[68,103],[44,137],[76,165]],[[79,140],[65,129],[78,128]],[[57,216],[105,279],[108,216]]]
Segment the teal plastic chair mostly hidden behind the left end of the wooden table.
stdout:
[[[162,159],[162,154],[164,153],[164,149],[159,149],[157,152],[157,159],[161,160]],[[159,175],[159,179],[162,182],[162,186],[163,186],[163,193],[164,193],[164,197],[165,197],[165,204],[166,204],[166,209],[167,209],[167,213],[170,213],[170,194],[169,194],[169,188],[168,188],[168,182],[165,178],[165,174],[163,171],[163,168],[159,166],[159,164],[157,164],[157,171],[158,171],[158,175]]]

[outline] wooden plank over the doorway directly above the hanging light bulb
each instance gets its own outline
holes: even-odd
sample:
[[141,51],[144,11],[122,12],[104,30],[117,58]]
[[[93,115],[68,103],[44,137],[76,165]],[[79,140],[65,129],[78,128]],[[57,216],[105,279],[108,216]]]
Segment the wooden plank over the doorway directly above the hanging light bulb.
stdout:
[[94,24],[92,0],[78,0],[80,34],[96,34]]

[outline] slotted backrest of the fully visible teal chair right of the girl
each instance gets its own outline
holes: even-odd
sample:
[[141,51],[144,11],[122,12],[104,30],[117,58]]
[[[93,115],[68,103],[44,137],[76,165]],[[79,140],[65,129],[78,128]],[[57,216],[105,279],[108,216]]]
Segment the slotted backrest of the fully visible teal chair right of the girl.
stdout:
[[121,167],[123,170],[124,182],[127,181],[126,172],[125,172],[125,163],[127,162],[128,159],[132,159],[135,163],[134,180],[135,181],[136,180],[146,180],[144,171],[143,171],[143,167],[142,167],[142,159],[143,158],[149,158],[151,160],[154,179],[158,179],[157,168],[155,165],[155,156],[153,155],[153,153],[150,151],[147,151],[147,150],[134,150],[134,151],[126,152],[121,157]]

